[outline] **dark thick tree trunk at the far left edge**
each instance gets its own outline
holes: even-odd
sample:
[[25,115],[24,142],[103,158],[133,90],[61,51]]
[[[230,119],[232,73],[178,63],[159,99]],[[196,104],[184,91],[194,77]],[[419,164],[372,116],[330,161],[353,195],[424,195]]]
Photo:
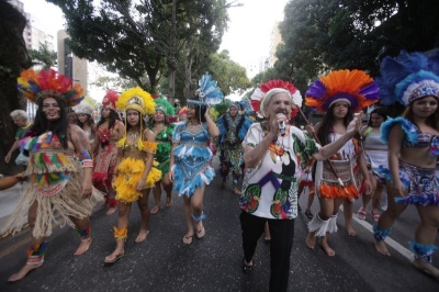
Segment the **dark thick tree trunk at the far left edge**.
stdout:
[[7,1],[0,0],[0,173],[10,175],[15,169],[5,166],[4,156],[15,141],[16,126],[9,113],[25,108],[25,100],[19,96],[16,78],[23,69],[31,67],[23,38],[26,19]]

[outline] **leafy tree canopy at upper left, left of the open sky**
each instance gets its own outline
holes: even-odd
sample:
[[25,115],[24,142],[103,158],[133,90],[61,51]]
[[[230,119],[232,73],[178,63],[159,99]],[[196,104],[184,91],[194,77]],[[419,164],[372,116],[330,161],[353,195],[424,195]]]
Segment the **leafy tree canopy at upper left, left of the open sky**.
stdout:
[[[156,91],[159,71],[165,68],[173,80],[181,49],[192,35],[221,40],[226,22],[226,12],[218,9],[225,0],[47,1],[65,13],[70,45],[78,57],[98,60],[150,92]],[[142,82],[144,72],[149,87]],[[171,86],[171,102],[173,91]]]

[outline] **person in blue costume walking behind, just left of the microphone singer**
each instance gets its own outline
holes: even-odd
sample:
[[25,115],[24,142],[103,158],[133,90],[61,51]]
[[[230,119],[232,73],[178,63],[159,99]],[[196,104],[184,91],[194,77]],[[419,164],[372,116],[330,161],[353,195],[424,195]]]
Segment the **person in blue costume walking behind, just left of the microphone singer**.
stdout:
[[[227,112],[217,119],[216,124],[219,130],[221,162],[232,170],[233,188],[237,188],[244,164],[241,143],[252,121],[245,115],[239,103],[233,103],[232,106],[237,109],[237,115],[233,117]],[[225,182],[228,173],[222,169],[221,175]]]

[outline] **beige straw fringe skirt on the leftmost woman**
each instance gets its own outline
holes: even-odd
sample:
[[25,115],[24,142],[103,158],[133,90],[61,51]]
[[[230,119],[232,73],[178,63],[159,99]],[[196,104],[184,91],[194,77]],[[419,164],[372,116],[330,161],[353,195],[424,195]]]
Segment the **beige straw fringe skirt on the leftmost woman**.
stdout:
[[[46,237],[52,234],[56,225],[64,226],[66,223],[72,227],[75,224],[70,217],[86,218],[98,201],[102,201],[102,194],[92,189],[90,198],[82,198],[83,172],[79,161],[68,157],[71,171],[35,173],[37,169],[32,165],[27,167],[26,175],[31,176],[15,211],[9,217],[4,231],[16,233],[27,223],[27,214],[31,206],[36,204],[36,220],[32,235],[36,238]],[[58,169],[59,170],[59,169]],[[32,173],[34,172],[34,173]],[[57,182],[45,183],[42,187],[42,177],[64,177]]]

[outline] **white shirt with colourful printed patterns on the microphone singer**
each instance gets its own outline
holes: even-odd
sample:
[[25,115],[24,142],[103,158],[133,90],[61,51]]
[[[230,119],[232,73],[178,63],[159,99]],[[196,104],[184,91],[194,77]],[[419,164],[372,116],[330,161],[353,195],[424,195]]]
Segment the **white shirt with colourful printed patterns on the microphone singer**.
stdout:
[[[243,147],[256,147],[267,135],[260,123],[250,126]],[[272,142],[258,166],[247,168],[239,206],[258,217],[292,220],[297,216],[297,188],[302,169],[318,151],[315,141],[291,126]]]

